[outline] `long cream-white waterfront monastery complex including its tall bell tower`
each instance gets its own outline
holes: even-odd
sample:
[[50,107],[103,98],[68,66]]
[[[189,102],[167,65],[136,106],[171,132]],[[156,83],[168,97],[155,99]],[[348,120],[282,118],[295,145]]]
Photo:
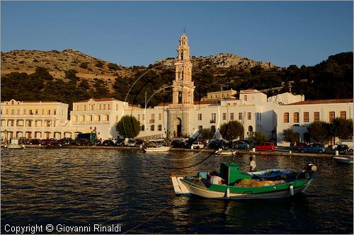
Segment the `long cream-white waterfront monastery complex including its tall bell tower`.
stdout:
[[[261,131],[278,146],[287,146],[282,136],[287,128],[298,132],[302,141],[310,142],[307,126],[311,122],[331,122],[336,117],[353,119],[353,98],[304,101],[304,96],[292,93],[267,98],[260,91],[248,89],[239,93],[216,91],[194,101],[193,65],[185,33],[177,51],[172,103],[139,108],[114,98],[91,98],[73,103],[68,120],[68,105],[64,103],[4,101],[1,138],[74,138],[81,132],[96,132],[101,139],[118,138],[115,125],[122,116],[132,115],[141,125],[137,138],[198,137],[203,128],[215,130],[215,137],[220,138],[220,125],[237,120],[244,126],[241,138]],[[236,94],[239,98],[235,98]]]

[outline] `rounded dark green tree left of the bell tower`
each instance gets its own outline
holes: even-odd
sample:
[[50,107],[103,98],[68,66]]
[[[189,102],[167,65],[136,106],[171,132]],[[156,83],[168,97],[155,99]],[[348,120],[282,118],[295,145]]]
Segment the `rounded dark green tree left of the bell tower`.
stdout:
[[127,138],[134,138],[140,132],[140,122],[133,116],[125,115],[115,126],[115,129]]

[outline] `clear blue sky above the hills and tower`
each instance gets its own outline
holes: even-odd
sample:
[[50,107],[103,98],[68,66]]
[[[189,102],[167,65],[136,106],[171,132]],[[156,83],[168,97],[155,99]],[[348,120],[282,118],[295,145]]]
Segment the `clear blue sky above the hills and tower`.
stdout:
[[353,51],[353,1],[1,1],[1,51],[72,48],[123,66],[232,53],[311,66]]

